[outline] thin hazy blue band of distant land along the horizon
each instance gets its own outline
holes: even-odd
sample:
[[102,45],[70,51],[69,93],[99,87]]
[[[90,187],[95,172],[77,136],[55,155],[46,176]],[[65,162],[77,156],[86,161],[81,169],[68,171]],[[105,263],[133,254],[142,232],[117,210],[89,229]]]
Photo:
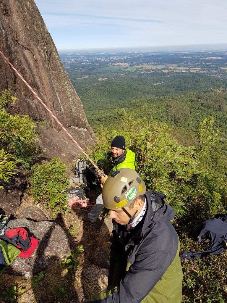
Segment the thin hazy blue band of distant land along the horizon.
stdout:
[[157,46],[131,46],[131,47],[100,47],[100,48],[65,48],[58,52],[87,52],[87,51],[121,51],[121,52],[182,52],[182,51],[227,51],[227,43],[217,44],[187,44],[187,45],[157,45]]

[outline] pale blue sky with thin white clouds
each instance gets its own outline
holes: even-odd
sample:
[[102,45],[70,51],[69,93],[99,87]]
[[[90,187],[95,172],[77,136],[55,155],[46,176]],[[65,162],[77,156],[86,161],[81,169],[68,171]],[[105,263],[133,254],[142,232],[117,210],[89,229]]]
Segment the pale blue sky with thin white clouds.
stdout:
[[58,50],[226,43],[226,0],[35,0]]

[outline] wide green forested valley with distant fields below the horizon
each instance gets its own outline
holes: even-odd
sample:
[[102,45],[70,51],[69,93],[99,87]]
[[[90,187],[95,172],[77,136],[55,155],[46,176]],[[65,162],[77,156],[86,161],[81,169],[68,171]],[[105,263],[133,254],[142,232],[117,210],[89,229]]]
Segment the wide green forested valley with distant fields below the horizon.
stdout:
[[136,119],[166,122],[172,138],[196,144],[203,118],[214,116],[221,140],[200,166],[227,181],[227,54],[212,52],[60,53],[88,122],[118,128],[116,108]]

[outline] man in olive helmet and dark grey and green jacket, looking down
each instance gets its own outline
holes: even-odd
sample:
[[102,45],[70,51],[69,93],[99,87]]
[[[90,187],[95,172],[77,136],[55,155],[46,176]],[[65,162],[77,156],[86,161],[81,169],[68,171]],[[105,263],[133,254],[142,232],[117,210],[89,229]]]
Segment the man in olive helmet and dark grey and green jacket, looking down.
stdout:
[[108,288],[84,302],[180,303],[180,245],[166,196],[146,191],[137,172],[128,168],[109,176],[102,196],[115,221]]

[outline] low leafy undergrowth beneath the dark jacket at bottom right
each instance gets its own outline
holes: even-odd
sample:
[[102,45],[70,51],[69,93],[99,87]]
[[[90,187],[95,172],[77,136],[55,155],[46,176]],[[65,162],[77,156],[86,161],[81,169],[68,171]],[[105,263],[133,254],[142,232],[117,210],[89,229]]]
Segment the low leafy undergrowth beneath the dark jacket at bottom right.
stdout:
[[[199,244],[184,235],[181,251],[207,250],[209,243]],[[224,303],[227,299],[226,253],[204,259],[181,259],[183,268],[183,303]]]

